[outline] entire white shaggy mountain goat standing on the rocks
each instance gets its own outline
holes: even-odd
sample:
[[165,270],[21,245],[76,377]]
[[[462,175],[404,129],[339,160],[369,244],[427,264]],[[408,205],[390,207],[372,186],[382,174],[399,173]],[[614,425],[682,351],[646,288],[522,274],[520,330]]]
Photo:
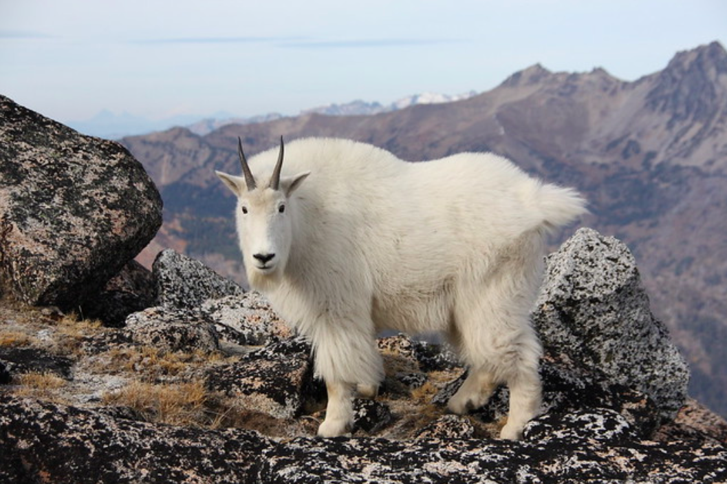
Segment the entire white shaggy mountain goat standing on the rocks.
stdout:
[[318,428],[342,435],[356,391],[384,376],[385,329],[442,331],[470,368],[449,400],[466,413],[510,388],[501,437],[537,416],[541,346],[529,312],[548,231],[585,212],[576,191],[530,178],[494,154],[403,162],[350,140],[307,138],[254,156],[236,177],[247,277],[310,339],[328,407]]

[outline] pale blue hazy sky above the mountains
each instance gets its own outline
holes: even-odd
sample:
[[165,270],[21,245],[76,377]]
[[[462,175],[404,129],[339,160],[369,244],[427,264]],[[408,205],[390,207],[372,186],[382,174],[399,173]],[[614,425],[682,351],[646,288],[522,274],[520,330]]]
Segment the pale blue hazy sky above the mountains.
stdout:
[[62,122],[297,114],[534,63],[634,80],[715,40],[724,0],[0,0],[0,94]]

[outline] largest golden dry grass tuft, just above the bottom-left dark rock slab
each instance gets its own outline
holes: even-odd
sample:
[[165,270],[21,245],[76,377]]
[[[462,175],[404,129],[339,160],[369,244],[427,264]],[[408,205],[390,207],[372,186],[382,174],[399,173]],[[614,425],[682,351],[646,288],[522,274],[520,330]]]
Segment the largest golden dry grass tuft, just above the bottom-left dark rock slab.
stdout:
[[214,417],[206,411],[208,399],[202,381],[180,384],[134,381],[121,390],[105,394],[103,402],[132,408],[147,421],[209,427]]

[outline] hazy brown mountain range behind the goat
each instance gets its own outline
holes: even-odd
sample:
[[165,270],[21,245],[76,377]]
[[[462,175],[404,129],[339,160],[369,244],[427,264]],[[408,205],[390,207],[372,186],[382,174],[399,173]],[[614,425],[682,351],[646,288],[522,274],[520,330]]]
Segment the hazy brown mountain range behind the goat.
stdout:
[[241,280],[233,199],[214,170],[239,172],[238,136],[252,155],[280,135],[353,138],[412,161],[493,151],[577,187],[592,212],[581,225],[635,254],[654,311],[691,364],[691,393],[727,415],[727,52],[718,42],[635,82],[536,65],[456,103],[124,138],[165,202],[155,247]]

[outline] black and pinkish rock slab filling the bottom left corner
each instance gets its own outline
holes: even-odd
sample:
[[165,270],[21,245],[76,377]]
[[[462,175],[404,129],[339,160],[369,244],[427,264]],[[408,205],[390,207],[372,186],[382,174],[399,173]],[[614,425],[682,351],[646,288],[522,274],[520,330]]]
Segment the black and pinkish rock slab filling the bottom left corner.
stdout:
[[254,483],[260,455],[273,445],[246,430],[153,425],[2,394],[0,401],[7,483]]

